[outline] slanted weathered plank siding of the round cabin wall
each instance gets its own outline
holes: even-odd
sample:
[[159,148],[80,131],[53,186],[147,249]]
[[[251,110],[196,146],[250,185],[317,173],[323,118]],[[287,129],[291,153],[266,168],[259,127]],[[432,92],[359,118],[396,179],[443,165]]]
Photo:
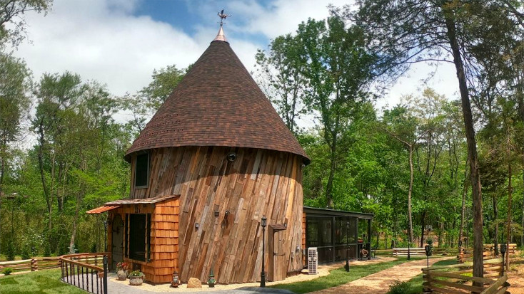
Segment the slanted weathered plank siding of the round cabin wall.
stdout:
[[[286,224],[278,238],[283,258],[267,251],[266,269],[276,261],[273,280],[301,271],[302,157],[288,152],[240,147],[151,149],[148,187],[135,189],[131,159],[131,198],[180,194],[178,272],[206,281],[213,268],[218,283],[260,280],[263,215]],[[236,160],[228,162],[229,152]],[[214,211],[218,211],[215,216]],[[196,228],[198,224],[198,229]],[[266,270],[267,271],[267,270]]]

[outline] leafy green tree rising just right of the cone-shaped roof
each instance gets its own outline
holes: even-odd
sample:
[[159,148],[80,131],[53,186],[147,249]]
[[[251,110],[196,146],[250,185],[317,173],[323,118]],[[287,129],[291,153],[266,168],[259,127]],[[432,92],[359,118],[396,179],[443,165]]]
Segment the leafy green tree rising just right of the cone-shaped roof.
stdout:
[[327,21],[309,19],[301,23],[296,38],[303,44],[300,56],[306,62],[301,66],[308,85],[306,103],[316,113],[323,140],[329,147],[326,202],[333,207],[341,133],[368,100],[366,89],[374,77],[374,58],[364,48],[361,29],[346,28],[334,10]]

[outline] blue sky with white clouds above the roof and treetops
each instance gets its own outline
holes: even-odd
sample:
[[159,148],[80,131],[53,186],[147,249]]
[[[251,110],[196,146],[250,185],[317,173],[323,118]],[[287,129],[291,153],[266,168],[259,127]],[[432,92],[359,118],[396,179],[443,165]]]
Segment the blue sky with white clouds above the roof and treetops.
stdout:
[[[296,31],[308,17],[326,18],[328,4],[343,6],[348,0],[54,0],[46,16],[26,15],[27,40],[15,54],[24,58],[36,80],[43,73],[69,70],[124,95],[146,86],[154,69],[194,63],[216,36],[221,9],[233,15],[224,25],[231,48],[253,70],[257,49]],[[424,83],[431,70],[414,66],[378,100],[378,107],[395,105],[402,95],[426,86],[454,98],[453,66],[440,65]]]

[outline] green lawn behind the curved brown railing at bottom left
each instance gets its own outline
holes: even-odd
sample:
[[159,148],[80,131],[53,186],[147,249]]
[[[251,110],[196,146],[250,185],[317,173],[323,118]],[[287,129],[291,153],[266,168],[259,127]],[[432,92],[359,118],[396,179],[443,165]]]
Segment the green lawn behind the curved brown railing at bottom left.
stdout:
[[19,275],[5,275],[0,277],[1,294],[84,294],[80,290],[60,281],[61,270],[52,269],[34,271]]

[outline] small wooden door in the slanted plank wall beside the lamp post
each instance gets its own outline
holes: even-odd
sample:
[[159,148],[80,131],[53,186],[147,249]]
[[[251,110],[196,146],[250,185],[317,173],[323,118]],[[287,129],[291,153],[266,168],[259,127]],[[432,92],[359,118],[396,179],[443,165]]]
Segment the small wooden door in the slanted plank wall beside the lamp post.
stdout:
[[[278,226],[278,225],[276,225]],[[285,229],[285,227],[283,227]],[[286,278],[288,266],[284,251],[284,231],[279,227],[269,226],[268,238],[268,280],[283,280]]]

